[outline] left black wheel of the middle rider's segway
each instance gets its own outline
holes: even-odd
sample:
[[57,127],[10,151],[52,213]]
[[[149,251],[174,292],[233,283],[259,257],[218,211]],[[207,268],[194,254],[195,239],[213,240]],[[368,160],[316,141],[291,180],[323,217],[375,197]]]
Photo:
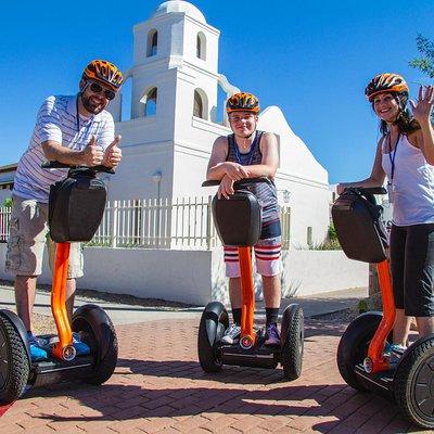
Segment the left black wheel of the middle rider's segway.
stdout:
[[229,327],[228,311],[219,302],[208,303],[202,314],[197,334],[199,362],[205,372],[221,370],[217,345]]

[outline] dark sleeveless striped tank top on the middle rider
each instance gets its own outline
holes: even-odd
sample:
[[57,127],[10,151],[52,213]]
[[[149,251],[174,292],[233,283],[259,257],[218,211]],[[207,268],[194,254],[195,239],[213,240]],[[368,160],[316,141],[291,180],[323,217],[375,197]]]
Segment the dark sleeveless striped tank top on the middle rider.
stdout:
[[[261,164],[263,153],[260,152],[259,143],[264,131],[256,131],[255,139],[251,145],[251,150],[242,154],[237,145],[234,135],[228,136],[228,156],[227,162],[241,164],[242,166],[250,166],[254,164]],[[244,187],[243,187],[244,188]],[[278,192],[275,181],[270,182],[252,183],[245,187],[251,191],[259,201],[261,207],[261,231],[260,240],[280,237],[282,230],[280,227]]]

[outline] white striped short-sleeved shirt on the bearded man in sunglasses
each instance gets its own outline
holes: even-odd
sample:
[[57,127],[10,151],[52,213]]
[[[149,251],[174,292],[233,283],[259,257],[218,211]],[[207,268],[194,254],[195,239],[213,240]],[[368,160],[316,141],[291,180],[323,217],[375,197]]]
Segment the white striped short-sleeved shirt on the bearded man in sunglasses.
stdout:
[[84,117],[77,113],[76,95],[47,98],[39,108],[30,143],[18,162],[13,194],[48,203],[50,186],[66,177],[67,169],[42,169],[41,164],[47,161],[41,146],[43,142],[52,140],[81,151],[94,136],[97,144],[105,150],[114,140],[114,131],[108,112]]

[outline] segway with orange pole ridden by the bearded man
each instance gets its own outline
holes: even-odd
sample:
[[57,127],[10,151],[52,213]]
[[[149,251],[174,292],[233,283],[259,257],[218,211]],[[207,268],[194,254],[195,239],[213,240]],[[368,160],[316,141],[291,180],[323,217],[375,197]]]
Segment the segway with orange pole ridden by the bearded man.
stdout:
[[[90,241],[100,225],[106,189],[97,171],[112,173],[104,166],[73,167],[56,162],[44,168],[69,168],[67,178],[51,186],[49,197],[50,235],[56,242],[51,291],[51,310],[58,335],[39,336],[51,342],[49,357],[31,361],[27,331],[11,310],[0,309],[0,404],[18,399],[29,386],[47,386],[61,381],[82,380],[102,384],[113,374],[117,362],[117,339],[112,321],[102,308],[84,305],[73,316],[66,312],[65,288],[69,242]],[[73,331],[90,347],[89,355],[77,355]]]

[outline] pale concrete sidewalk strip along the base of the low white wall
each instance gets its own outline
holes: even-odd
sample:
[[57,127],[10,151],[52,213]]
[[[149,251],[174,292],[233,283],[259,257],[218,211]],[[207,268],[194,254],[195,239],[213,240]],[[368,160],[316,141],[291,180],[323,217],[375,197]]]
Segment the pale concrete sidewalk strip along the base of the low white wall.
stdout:
[[[312,297],[294,297],[282,301],[283,311],[291,303],[298,303],[306,318],[317,317],[324,314],[335,312],[354,306],[358,299],[368,296],[368,289],[353,289],[347,291],[336,291],[319,294]],[[203,306],[199,307],[144,307],[138,305],[128,305],[111,303],[101,298],[88,298],[78,295],[76,297],[76,307],[87,303],[94,303],[101,306],[111,317],[114,324],[131,324],[137,322],[155,321],[159,319],[189,319],[200,318]],[[14,309],[14,291],[10,286],[0,286],[0,308]],[[36,295],[35,312],[50,316],[50,294],[38,291]],[[260,320],[265,317],[264,303],[256,303],[256,316]]]

